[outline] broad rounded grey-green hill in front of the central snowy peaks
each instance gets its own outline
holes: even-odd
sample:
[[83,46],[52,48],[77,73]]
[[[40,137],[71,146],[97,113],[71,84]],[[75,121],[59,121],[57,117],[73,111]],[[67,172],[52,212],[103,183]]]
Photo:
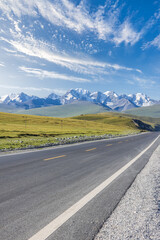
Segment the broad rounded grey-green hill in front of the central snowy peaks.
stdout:
[[109,108],[86,101],[77,101],[71,104],[60,106],[33,108],[29,110],[17,111],[18,114],[29,114],[48,117],[73,117],[81,114],[95,114],[107,112]]

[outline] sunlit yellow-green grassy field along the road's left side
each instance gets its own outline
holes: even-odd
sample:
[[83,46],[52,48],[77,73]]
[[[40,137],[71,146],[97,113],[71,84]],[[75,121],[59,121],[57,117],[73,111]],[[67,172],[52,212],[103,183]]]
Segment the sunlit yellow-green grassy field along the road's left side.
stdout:
[[0,149],[56,143],[66,137],[131,134],[139,131],[131,118],[112,113],[75,118],[0,113]]

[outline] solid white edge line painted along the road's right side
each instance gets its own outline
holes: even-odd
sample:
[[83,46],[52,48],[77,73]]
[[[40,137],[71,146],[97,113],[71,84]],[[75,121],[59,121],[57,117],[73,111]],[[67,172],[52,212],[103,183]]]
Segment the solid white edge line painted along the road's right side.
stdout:
[[[160,135],[159,135],[160,136]],[[45,240],[51,234],[53,234],[62,224],[64,224],[68,219],[70,219],[75,213],[77,213],[82,207],[84,207],[89,201],[91,201],[96,195],[103,191],[110,183],[112,183],[117,177],[119,177],[127,168],[129,168],[134,162],[137,161],[159,138],[159,136],[141,153],[139,153],[135,158],[133,158],[129,163],[120,168],[111,177],[102,182],[99,186],[81,198],[78,202],[68,208],[65,212],[47,224],[39,232],[33,235],[28,240]]]

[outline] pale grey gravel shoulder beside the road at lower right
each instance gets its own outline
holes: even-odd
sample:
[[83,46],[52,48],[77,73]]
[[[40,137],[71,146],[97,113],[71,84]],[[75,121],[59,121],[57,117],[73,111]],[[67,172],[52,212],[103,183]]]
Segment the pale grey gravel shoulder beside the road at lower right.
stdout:
[[160,146],[94,240],[160,239]]

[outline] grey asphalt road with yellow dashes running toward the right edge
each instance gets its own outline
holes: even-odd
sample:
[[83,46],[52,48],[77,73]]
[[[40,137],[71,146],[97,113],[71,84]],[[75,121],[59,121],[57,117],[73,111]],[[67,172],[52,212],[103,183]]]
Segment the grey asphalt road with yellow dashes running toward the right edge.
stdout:
[[[158,135],[146,133],[0,155],[0,239],[30,239],[140,154]],[[160,138],[47,239],[93,239],[158,144]]]

